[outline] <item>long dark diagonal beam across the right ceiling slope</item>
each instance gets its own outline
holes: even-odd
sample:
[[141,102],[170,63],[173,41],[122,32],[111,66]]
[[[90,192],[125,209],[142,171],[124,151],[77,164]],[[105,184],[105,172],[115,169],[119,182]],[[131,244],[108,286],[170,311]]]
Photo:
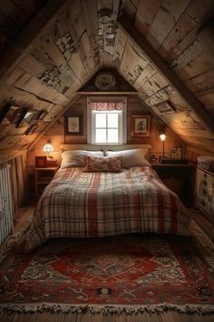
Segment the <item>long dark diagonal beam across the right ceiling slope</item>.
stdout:
[[170,85],[174,86],[180,95],[187,101],[190,105],[192,111],[194,111],[199,119],[209,127],[209,129],[214,131],[214,120],[209,115],[207,110],[205,110],[199,100],[191,94],[189,88],[180,80],[180,78],[174,74],[170,67],[164,62],[164,60],[158,55],[158,53],[153,49],[153,47],[146,41],[146,39],[141,35],[138,29],[131,24],[129,18],[126,15],[121,15],[119,18],[119,24],[121,25],[124,32],[131,37],[131,39],[137,44],[141,50],[149,56],[157,69],[160,70],[162,75],[169,80]]

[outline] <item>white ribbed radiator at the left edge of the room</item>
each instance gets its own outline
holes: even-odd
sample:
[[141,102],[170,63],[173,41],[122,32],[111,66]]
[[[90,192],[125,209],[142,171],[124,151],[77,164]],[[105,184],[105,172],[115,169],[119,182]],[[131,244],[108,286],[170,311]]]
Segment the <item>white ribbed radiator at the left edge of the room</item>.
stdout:
[[10,166],[0,167],[0,244],[14,232]]

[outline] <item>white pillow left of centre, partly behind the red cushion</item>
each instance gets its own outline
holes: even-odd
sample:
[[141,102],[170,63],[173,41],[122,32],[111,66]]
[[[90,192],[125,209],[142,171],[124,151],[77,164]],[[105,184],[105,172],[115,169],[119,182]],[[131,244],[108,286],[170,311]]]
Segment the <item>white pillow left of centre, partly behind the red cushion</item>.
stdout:
[[67,150],[62,153],[61,168],[86,166],[86,156],[104,156],[102,151]]

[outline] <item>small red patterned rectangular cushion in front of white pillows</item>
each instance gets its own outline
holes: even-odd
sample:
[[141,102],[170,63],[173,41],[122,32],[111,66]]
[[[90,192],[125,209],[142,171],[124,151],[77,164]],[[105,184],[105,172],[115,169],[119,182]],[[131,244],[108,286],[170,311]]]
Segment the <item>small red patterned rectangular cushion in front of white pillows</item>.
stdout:
[[120,172],[122,156],[86,156],[85,172]]

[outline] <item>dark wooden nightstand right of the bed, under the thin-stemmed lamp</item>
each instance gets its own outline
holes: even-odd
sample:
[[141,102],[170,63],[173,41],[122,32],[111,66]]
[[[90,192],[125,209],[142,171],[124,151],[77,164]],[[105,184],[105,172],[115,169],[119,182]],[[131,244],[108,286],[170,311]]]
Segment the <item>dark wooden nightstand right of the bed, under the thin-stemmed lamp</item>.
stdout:
[[192,164],[153,164],[162,182],[174,191],[185,206],[194,206],[195,169]]

